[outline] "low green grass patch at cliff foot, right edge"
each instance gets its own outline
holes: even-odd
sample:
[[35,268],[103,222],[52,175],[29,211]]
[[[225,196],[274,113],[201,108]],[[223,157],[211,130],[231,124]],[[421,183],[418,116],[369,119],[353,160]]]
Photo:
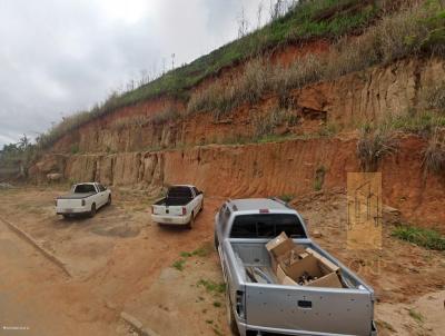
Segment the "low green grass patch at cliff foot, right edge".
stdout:
[[392,236],[427,249],[445,250],[445,237],[432,229],[415,226],[398,226],[393,230]]

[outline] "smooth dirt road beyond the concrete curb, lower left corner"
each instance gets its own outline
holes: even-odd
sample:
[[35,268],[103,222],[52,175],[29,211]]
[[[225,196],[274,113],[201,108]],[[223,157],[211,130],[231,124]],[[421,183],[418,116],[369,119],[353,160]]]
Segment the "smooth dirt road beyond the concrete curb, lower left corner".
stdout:
[[[93,295],[68,303],[72,284],[34,247],[23,241],[0,220],[0,335],[109,335],[101,320],[82,318],[100,304]],[[80,313],[80,314],[79,314]]]

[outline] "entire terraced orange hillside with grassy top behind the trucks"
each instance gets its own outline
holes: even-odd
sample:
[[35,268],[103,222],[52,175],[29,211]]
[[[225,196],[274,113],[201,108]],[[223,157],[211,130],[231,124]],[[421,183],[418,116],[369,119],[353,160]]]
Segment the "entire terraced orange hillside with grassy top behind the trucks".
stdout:
[[444,22],[438,1],[297,6],[56,127],[30,176],[246,197],[344,189],[348,171],[382,171],[385,204],[443,230]]

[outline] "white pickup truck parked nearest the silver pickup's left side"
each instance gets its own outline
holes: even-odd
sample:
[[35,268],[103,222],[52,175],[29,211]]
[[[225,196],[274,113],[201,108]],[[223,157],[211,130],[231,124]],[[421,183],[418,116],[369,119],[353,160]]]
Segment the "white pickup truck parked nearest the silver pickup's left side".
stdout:
[[182,225],[191,228],[204,208],[202,191],[195,186],[178,185],[168,189],[167,197],[151,206],[151,219],[158,224]]

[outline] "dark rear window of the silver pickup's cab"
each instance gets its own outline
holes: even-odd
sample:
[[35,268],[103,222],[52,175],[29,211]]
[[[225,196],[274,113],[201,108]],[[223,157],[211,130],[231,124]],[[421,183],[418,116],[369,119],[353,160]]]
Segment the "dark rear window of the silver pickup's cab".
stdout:
[[285,231],[290,238],[306,238],[298,217],[287,214],[240,215],[235,217],[231,238],[275,238]]

